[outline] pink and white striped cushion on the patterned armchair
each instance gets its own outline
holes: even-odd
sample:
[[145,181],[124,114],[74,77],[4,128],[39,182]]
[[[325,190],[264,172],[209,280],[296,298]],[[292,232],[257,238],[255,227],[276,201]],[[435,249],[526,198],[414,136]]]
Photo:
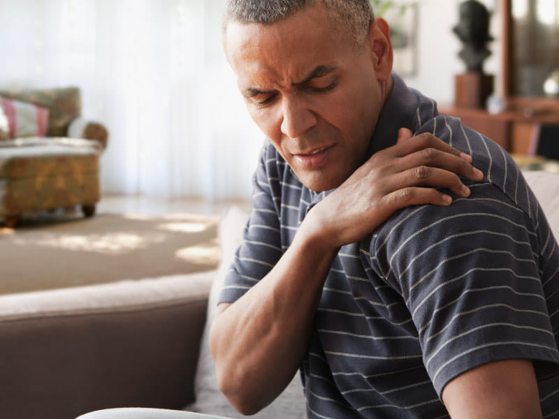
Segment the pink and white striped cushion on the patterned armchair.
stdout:
[[0,97],[3,114],[8,120],[9,138],[43,137],[48,129],[48,109],[29,102]]

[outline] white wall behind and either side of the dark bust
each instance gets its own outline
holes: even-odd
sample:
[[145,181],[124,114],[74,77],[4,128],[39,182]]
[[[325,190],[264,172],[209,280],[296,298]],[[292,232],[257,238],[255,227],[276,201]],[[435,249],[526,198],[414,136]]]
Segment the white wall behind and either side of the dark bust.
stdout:
[[[405,78],[409,86],[419,89],[440,104],[454,100],[454,75],[463,73],[465,66],[458,58],[460,41],[452,28],[458,23],[458,6],[462,0],[419,0],[417,73]],[[500,87],[501,19],[499,0],[481,0],[490,12],[490,34],[495,41],[488,45],[493,52],[484,64],[484,71],[495,75],[495,87]]]

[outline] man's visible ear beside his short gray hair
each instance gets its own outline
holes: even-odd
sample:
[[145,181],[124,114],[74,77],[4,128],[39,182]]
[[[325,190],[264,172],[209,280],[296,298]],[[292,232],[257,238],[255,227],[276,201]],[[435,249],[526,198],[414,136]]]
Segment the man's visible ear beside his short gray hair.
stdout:
[[390,40],[390,27],[386,20],[375,17],[369,27],[369,45],[373,66],[381,80],[387,80],[392,73],[394,52]]

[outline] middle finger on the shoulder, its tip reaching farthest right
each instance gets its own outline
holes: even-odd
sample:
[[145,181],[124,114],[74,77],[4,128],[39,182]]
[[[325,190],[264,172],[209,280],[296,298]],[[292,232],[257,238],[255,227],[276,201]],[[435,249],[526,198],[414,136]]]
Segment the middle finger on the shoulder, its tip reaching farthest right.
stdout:
[[408,154],[398,161],[400,171],[419,168],[420,166],[449,170],[474,182],[480,182],[484,179],[483,172],[474,168],[469,162],[456,156],[456,154],[444,152],[433,147],[419,149],[419,151]]

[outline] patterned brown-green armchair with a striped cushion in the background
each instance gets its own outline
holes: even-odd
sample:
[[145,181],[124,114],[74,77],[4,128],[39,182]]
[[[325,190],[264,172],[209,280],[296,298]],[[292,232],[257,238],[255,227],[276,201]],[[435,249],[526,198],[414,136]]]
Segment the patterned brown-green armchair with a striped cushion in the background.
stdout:
[[13,228],[24,214],[100,198],[99,154],[108,131],[81,117],[80,89],[0,91],[0,216]]

